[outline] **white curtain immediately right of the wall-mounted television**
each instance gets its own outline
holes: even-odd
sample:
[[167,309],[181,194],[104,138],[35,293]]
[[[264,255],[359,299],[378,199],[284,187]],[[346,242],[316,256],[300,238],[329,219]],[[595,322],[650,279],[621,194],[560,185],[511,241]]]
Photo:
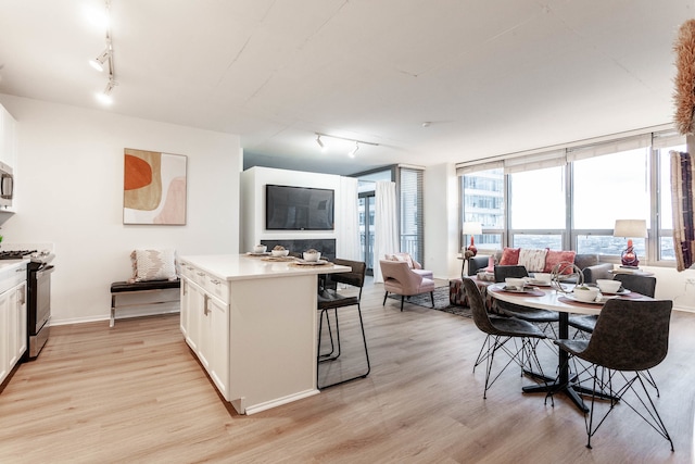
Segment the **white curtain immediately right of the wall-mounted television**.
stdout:
[[340,204],[336,206],[340,215],[336,220],[342,225],[336,230],[336,258],[361,261],[357,178],[340,178]]

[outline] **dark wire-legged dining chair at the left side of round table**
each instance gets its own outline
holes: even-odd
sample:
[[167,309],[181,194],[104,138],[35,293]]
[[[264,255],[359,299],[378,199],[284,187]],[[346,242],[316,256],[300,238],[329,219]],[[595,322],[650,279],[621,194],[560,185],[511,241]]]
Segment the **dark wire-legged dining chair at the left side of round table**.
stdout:
[[[466,298],[468,299],[468,305],[472,312],[473,323],[481,331],[486,334],[485,340],[473,364],[473,372],[476,372],[476,367],[478,367],[479,364],[483,361],[486,363],[485,388],[482,398],[488,398],[490,387],[492,387],[504,369],[513,362],[516,362],[516,364],[521,367],[522,373],[528,362],[529,371],[532,371],[531,367],[535,367],[542,375],[543,368],[536,356],[535,346],[539,340],[546,338],[545,334],[535,325],[517,319],[516,317],[491,318],[488,315],[488,309],[476,283],[465,277],[463,286],[466,291]],[[500,350],[509,355],[509,361],[491,380],[492,364],[495,353]]]

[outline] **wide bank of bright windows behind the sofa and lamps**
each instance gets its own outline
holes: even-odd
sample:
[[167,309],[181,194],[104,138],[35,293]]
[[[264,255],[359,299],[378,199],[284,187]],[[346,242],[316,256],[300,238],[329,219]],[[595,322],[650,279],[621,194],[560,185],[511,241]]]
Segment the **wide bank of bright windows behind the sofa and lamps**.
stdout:
[[[462,227],[482,223],[479,249],[570,249],[616,263],[632,239],[642,264],[671,265],[669,151],[685,151],[684,142],[662,131],[501,156],[478,166],[463,163],[457,166]],[[614,237],[616,220],[645,220],[648,237]]]

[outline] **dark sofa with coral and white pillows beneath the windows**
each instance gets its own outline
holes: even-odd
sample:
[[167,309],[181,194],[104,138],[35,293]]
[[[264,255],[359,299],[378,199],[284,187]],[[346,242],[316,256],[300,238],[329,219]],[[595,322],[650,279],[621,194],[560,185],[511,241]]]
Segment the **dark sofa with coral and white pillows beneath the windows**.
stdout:
[[[529,274],[533,275],[534,272],[549,273],[557,263],[564,262],[573,263],[579,267],[582,271],[585,283],[595,283],[596,279],[612,278],[610,272],[614,265],[611,263],[601,263],[597,254],[578,254],[574,251],[522,248],[505,248],[495,254],[469,258],[468,275],[477,276],[481,283],[485,280],[494,283],[495,265],[525,265]],[[450,303],[466,306],[466,294],[463,291],[462,279],[450,280],[448,287]]]

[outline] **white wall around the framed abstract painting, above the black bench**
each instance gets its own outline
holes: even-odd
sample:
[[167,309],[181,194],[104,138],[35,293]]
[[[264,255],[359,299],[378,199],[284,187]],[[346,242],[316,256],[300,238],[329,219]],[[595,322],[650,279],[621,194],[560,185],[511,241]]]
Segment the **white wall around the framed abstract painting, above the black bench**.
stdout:
[[[52,324],[106,318],[135,248],[239,251],[239,137],[0,95],[17,121],[7,242],[54,243]],[[117,109],[114,109],[116,111]],[[123,225],[124,149],[188,156],[185,226]]]

